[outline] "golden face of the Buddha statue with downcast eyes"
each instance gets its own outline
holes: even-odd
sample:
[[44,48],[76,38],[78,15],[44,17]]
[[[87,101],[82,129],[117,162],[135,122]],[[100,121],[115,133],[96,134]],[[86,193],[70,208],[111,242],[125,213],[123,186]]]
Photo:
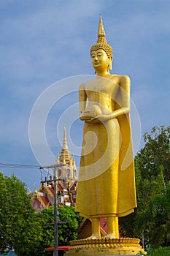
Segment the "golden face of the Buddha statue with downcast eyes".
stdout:
[[107,56],[107,53],[102,49],[92,50],[90,56],[91,56],[93,68],[96,71],[107,70],[109,67],[110,61],[112,61],[112,59],[109,59]]

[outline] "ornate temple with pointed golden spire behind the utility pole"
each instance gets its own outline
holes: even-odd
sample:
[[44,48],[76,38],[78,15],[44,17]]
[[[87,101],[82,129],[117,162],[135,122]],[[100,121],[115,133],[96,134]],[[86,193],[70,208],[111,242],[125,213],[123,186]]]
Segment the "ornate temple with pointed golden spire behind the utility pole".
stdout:
[[[55,165],[61,165],[56,167],[55,172],[58,178],[58,205],[63,206],[75,206],[76,203],[76,191],[77,191],[77,167],[75,164],[74,156],[71,157],[66,140],[66,127],[63,131],[63,146],[60,156],[56,157]],[[39,190],[35,188],[33,193],[30,193],[31,204],[36,211],[42,211],[44,208],[53,206],[54,204],[54,182],[52,177],[50,179],[45,178],[45,181],[41,181]]]

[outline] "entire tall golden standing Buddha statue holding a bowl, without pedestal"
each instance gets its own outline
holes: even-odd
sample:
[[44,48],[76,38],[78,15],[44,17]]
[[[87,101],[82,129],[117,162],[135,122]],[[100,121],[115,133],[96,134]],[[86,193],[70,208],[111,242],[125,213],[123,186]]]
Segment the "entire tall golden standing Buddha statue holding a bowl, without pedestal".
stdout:
[[100,238],[100,218],[107,217],[107,238],[119,238],[118,217],[136,207],[131,142],[130,79],[110,75],[112,48],[100,18],[98,41],[90,49],[96,78],[80,85],[84,121],[76,211],[90,219],[90,238]]

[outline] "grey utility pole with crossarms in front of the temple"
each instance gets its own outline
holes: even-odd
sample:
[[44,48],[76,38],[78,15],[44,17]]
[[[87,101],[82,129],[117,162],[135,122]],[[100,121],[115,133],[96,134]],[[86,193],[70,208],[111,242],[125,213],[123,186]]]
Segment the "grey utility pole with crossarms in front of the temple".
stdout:
[[[48,165],[48,166],[41,166],[39,169],[50,169],[54,168],[53,170],[53,180],[54,181],[54,253],[53,256],[58,256],[58,181],[61,179],[57,177],[57,167],[66,166],[66,164],[58,164],[58,165]],[[46,181],[49,182],[49,181]]]

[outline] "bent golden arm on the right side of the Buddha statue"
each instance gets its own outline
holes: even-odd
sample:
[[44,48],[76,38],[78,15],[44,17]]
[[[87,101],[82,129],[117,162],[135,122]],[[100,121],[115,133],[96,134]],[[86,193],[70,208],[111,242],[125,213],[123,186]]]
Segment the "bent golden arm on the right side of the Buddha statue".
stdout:
[[127,75],[120,76],[120,97],[121,106],[119,109],[109,114],[110,119],[116,118],[117,116],[125,115],[130,111],[130,78]]

